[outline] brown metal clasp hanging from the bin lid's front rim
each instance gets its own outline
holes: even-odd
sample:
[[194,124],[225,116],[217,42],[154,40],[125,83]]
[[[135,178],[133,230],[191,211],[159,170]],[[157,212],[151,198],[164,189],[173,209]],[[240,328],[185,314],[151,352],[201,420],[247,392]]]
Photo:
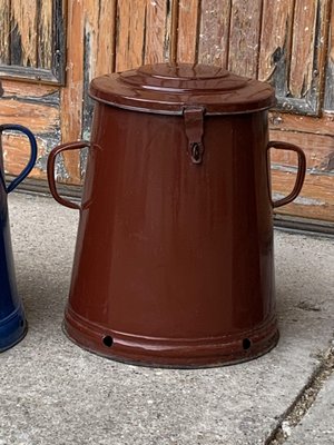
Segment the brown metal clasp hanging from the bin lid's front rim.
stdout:
[[204,156],[204,113],[203,107],[185,107],[184,119],[188,138],[188,150],[193,164],[202,164]]

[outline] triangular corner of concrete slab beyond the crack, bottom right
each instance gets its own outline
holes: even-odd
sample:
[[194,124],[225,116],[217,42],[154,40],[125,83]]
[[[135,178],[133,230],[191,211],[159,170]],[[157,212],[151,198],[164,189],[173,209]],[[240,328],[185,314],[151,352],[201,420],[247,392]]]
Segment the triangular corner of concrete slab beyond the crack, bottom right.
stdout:
[[334,443],[334,375],[318,393],[314,405],[294,428],[286,445],[333,445]]

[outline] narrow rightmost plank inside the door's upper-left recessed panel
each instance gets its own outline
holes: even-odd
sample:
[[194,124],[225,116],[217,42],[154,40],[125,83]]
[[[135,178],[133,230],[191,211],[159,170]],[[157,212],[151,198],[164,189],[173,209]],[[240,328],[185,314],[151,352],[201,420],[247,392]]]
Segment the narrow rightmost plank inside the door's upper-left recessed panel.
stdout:
[[38,63],[45,69],[52,66],[52,0],[42,0],[38,11]]

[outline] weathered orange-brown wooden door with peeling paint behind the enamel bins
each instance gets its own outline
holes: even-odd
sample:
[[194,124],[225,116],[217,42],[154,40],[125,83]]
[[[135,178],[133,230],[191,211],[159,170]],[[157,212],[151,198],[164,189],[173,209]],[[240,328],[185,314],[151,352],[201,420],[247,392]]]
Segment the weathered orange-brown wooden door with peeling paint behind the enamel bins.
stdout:
[[[89,138],[92,77],[159,61],[212,63],[271,82],[271,138],[306,152],[303,192],[279,212],[334,224],[331,0],[0,0],[0,121],[37,134],[33,178],[45,179],[56,144]],[[16,174],[23,141],[8,138],[7,168]],[[279,198],[293,187],[296,159],[273,150],[272,162]],[[61,158],[57,168],[61,182],[78,185],[85,154]]]

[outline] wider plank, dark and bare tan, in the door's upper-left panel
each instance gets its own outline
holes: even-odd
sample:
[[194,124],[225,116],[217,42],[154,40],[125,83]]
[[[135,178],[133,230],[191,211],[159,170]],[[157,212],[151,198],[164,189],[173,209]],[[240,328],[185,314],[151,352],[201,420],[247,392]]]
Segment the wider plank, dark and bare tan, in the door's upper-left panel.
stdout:
[[11,0],[11,63],[37,67],[37,0]]

